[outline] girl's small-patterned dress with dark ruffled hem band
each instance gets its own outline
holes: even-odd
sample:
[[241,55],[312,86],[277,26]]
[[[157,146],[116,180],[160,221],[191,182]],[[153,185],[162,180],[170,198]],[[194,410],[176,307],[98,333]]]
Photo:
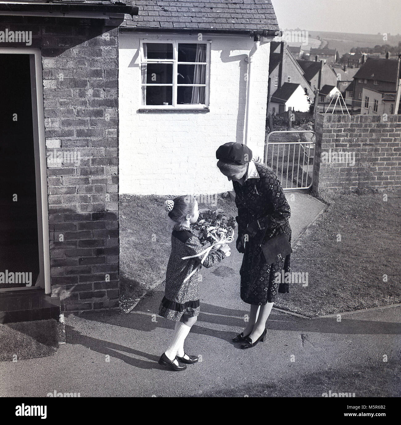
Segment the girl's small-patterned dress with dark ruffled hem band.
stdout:
[[[202,281],[202,267],[186,282],[185,278],[201,262],[203,255],[182,260],[182,257],[199,254],[205,250],[196,235],[186,226],[174,226],[171,233],[171,254],[165,277],[165,295],[160,303],[159,315],[170,320],[180,320],[182,314],[199,314],[199,283]],[[219,264],[225,254],[221,249],[210,253],[203,266]]]

